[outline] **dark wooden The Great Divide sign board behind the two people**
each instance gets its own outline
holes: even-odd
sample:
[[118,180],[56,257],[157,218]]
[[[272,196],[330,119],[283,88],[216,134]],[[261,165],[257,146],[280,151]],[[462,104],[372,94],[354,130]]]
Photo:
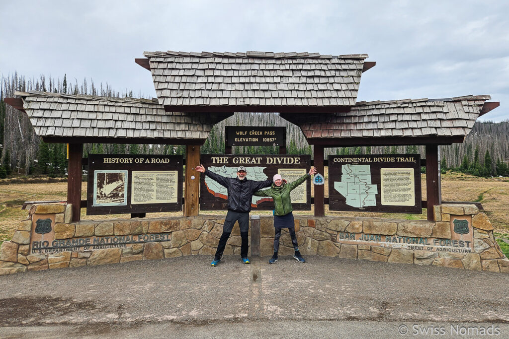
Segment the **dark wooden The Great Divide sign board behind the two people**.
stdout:
[[[225,176],[235,178],[237,168],[247,169],[246,178],[254,181],[272,180],[274,174],[281,174],[283,179],[292,182],[307,172],[311,166],[308,155],[202,155],[201,163],[206,169]],[[199,173],[199,172],[196,172]],[[205,174],[201,173],[200,209],[227,210],[228,190]],[[311,209],[311,181],[308,179],[291,193],[294,210]],[[253,210],[272,210],[272,198],[253,196]]]

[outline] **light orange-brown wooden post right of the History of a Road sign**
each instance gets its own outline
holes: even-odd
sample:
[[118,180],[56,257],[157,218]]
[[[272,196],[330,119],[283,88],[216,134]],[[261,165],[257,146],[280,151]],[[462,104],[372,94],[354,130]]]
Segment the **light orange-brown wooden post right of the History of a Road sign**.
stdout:
[[[184,217],[198,215],[200,211],[200,172],[194,171],[199,165],[200,146],[186,146]],[[192,176],[194,179],[191,179]]]

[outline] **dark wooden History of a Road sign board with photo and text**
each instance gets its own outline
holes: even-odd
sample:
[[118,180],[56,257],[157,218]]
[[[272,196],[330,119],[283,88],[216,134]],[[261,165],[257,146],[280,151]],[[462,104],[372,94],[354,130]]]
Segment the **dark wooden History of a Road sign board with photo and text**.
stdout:
[[87,214],[182,210],[182,156],[89,154]]

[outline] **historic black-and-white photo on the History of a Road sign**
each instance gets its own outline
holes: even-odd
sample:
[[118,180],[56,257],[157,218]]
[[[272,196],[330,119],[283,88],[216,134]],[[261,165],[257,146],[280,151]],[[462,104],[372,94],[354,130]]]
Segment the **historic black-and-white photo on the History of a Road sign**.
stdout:
[[127,205],[127,170],[94,171],[94,206]]

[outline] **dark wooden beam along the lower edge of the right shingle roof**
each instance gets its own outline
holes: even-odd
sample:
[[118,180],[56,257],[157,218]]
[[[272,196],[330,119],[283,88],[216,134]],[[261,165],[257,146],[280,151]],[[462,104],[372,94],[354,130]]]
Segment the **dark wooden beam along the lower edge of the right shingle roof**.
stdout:
[[450,145],[453,143],[462,143],[465,140],[465,136],[306,138],[306,140],[311,145],[320,144],[327,147]]

